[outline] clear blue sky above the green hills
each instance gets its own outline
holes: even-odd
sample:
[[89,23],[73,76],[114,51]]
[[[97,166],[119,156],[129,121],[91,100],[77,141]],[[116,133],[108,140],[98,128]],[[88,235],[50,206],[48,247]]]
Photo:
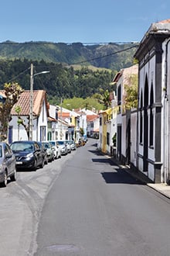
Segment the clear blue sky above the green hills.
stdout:
[[162,0],[5,0],[0,43],[140,42],[153,22],[170,19]]

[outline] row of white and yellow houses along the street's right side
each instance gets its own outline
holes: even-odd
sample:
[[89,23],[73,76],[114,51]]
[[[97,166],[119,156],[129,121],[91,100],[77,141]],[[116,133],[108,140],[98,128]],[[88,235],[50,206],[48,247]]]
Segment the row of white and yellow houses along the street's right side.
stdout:
[[[117,106],[100,113],[98,147],[131,165],[151,182],[170,183],[170,19],[152,23],[134,57],[138,64],[117,72]],[[124,85],[138,74],[138,107],[124,110]]]

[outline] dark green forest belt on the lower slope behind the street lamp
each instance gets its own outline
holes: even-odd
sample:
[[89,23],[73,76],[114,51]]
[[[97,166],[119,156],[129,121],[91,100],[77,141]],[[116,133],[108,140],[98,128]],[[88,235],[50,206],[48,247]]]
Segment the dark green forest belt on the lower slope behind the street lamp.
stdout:
[[[34,78],[34,90],[46,90],[51,104],[59,105],[60,99],[93,98],[100,90],[113,91],[111,81],[115,71],[97,69],[92,71],[88,67],[74,70],[73,67],[63,67],[61,64],[33,61],[34,74],[49,71],[48,74]],[[6,81],[15,81],[23,89],[30,88],[30,61],[14,60],[0,61],[0,88]],[[87,103],[90,104],[87,100]],[[86,102],[85,102],[86,105]]]

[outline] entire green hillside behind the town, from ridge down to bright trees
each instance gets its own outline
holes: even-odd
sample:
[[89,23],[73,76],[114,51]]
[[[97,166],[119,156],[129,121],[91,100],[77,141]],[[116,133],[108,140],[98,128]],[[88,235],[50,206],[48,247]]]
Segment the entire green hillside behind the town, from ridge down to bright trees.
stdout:
[[[5,83],[18,83],[30,88],[30,64],[34,74],[50,71],[34,78],[34,90],[46,90],[51,104],[70,109],[106,109],[109,93],[115,90],[114,75],[133,64],[136,44],[27,42],[0,43],[0,89]],[[70,106],[70,107],[69,107]]]

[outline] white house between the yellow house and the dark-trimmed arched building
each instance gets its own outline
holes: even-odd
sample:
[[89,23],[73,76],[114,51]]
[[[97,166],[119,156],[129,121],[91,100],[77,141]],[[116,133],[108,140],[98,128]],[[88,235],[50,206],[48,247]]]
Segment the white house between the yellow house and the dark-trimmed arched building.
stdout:
[[137,109],[134,112],[127,111],[124,100],[124,86],[131,86],[130,81],[134,75],[138,76],[138,64],[119,71],[114,77],[114,82],[117,84],[117,158],[125,164],[136,165]]

